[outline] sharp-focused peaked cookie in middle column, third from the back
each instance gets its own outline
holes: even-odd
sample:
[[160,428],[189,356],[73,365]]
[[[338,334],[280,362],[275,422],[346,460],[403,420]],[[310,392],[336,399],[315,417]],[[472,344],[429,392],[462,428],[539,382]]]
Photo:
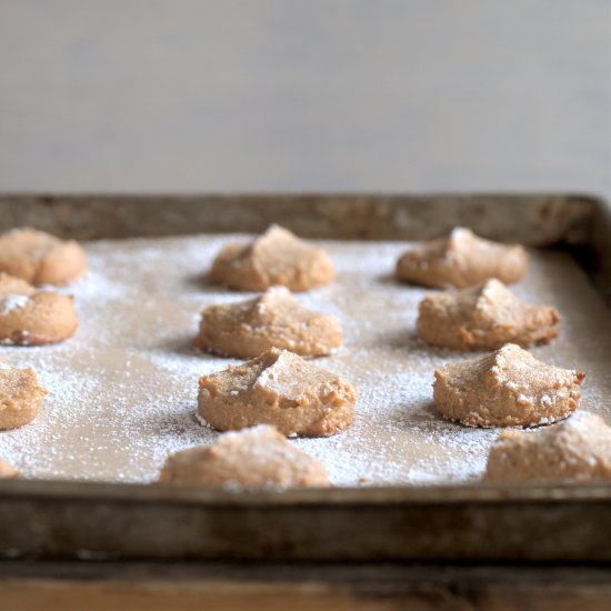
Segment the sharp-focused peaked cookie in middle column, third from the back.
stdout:
[[350,427],[357,392],[338,375],[272,348],[200,379],[200,417],[221,431],[273,424],[286,435],[325,437]]

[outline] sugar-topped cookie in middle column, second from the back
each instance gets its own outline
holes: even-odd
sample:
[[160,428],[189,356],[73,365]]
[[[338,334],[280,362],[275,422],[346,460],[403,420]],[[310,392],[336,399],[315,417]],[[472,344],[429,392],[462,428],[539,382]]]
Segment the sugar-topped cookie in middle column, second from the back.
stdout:
[[320,357],[338,349],[341,342],[335,318],[303,308],[284,287],[273,287],[240,303],[210,306],[201,313],[194,340],[202,350],[244,359],[269,348]]

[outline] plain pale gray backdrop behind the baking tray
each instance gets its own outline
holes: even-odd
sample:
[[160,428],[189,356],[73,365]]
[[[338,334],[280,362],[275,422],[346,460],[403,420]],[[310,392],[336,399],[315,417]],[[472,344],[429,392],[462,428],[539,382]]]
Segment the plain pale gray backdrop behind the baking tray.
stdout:
[[0,8],[0,190],[611,196],[609,1]]

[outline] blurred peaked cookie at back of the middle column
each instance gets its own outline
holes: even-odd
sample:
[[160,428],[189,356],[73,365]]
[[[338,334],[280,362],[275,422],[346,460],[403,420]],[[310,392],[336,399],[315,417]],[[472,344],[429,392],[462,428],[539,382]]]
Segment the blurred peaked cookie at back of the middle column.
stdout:
[[264,291],[280,284],[309,291],[328,284],[334,271],[327,252],[271,226],[250,244],[228,244],[214,259],[210,280],[243,291]]

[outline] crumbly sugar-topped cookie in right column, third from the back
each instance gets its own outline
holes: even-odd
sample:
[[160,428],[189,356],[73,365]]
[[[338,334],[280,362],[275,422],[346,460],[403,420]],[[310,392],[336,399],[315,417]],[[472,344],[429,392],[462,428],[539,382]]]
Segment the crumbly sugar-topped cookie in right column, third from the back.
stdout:
[[443,418],[470,427],[537,427],[567,418],[584,374],[534,359],[508,343],[434,372],[433,397]]

